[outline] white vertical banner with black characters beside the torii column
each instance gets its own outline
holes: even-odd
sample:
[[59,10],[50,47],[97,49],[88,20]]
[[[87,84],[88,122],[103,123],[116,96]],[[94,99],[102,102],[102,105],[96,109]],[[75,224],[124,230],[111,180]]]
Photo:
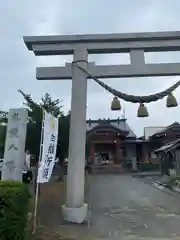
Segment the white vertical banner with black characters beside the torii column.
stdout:
[[44,111],[44,133],[37,182],[48,182],[55,163],[58,139],[58,119]]

